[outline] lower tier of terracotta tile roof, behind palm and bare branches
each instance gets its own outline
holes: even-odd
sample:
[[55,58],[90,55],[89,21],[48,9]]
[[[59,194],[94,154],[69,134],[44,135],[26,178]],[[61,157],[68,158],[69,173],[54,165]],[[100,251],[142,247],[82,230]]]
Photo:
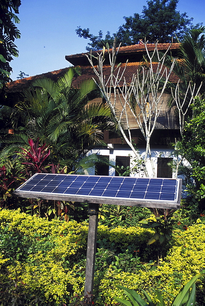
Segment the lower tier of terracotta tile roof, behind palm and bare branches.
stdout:
[[[134,62],[134,63],[128,63],[124,76],[126,78],[126,81],[129,82],[132,80],[132,76],[133,73],[135,73],[137,71],[137,69],[140,67],[141,62]],[[122,63],[120,65],[121,70],[125,67],[125,63]],[[153,64],[153,67],[156,68],[157,67],[157,63]],[[95,68],[97,68],[97,66],[95,66]],[[30,76],[21,80],[16,80],[13,82],[10,82],[7,84],[7,88],[8,88],[8,92],[18,92],[18,91],[22,91],[25,88],[28,88],[32,85],[32,82],[35,79],[38,78],[42,78],[42,77],[49,77],[52,80],[57,80],[60,76],[62,76],[66,71],[68,71],[69,68],[64,68],[64,69],[60,69],[60,70],[55,70],[52,72],[48,72],[48,73],[43,73],[40,75],[36,75],[36,76]],[[105,78],[110,75],[110,65],[104,65],[104,75]],[[80,83],[84,80],[89,80],[91,78],[96,78],[95,73],[93,72],[93,68],[91,66],[82,66],[81,67],[81,75],[80,76],[74,76],[73,78],[73,82],[72,85],[74,87],[79,87]],[[170,81],[171,82],[177,82],[178,81],[178,77],[172,73],[171,77],[170,77]]]

